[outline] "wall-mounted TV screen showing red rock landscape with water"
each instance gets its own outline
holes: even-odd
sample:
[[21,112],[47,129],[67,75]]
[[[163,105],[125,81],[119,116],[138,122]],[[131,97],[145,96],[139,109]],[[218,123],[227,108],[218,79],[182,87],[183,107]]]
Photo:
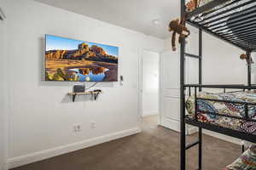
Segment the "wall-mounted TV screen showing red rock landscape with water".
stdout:
[[45,48],[46,81],[118,81],[118,47],[45,35]]

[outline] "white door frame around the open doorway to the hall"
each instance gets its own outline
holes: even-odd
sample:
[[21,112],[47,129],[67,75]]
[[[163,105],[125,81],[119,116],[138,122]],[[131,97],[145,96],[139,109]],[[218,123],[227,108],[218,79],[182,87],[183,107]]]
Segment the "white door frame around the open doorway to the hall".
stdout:
[[143,118],[143,51],[147,51],[147,52],[151,52],[151,53],[156,53],[159,55],[159,82],[158,82],[158,112],[159,112],[159,116],[158,116],[158,125],[161,125],[161,101],[160,101],[160,97],[161,97],[161,54],[162,52],[159,51],[154,51],[152,49],[141,49],[139,51],[139,59],[138,59],[138,118],[139,118],[139,122],[142,121]]

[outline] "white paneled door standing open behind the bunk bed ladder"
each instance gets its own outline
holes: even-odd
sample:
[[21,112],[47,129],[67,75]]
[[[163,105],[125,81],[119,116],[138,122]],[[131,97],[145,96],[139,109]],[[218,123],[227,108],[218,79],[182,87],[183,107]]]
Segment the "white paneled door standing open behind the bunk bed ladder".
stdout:
[[[180,55],[166,51],[160,56],[160,124],[180,131]],[[198,59],[185,59],[185,82],[198,83]],[[190,132],[191,126],[187,127]]]

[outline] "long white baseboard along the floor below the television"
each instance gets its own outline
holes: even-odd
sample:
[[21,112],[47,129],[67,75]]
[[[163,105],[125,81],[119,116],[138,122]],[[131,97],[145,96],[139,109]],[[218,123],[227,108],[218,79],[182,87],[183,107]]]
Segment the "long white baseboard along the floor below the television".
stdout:
[[42,161],[44,159],[48,159],[50,157],[54,156],[60,156],[75,150],[81,150],[96,144],[102,144],[108,141],[111,141],[113,139],[120,139],[125,136],[130,136],[132,134],[140,133],[141,129],[139,127],[127,129],[124,131],[120,131],[117,133],[111,133],[108,135],[104,135],[101,137],[97,137],[94,139],[87,139],[84,141],[80,141],[77,143],[73,144],[67,144],[67,145],[62,145],[53,149],[49,150],[42,150],[38,152],[34,152],[32,154],[26,155],[26,156],[18,156],[14,158],[9,158],[8,160],[8,167],[9,168],[14,168],[14,167],[20,167],[22,165],[26,165],[35,161]]

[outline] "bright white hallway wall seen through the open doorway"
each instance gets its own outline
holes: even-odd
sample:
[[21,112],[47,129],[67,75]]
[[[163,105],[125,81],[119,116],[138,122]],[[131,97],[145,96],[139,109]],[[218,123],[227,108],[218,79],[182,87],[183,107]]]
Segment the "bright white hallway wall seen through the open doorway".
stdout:
[[143,50],[143,116],[159,114],[159,59],[155,52]]

